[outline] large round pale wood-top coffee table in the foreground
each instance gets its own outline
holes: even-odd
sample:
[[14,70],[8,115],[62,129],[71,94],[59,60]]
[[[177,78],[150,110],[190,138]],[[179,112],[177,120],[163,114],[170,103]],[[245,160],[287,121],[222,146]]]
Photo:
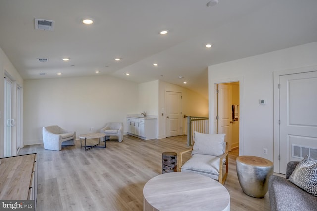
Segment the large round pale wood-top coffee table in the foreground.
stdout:
[[216,180],[197,173],[172,172],[143,188],[143,211],[230,211],[230,195]]

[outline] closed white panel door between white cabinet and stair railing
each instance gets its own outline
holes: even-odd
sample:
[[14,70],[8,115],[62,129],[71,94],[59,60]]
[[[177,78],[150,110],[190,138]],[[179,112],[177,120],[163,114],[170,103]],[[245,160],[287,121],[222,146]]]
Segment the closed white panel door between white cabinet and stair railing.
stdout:
[[166,91],[166,137],[181,135],[181,93]]

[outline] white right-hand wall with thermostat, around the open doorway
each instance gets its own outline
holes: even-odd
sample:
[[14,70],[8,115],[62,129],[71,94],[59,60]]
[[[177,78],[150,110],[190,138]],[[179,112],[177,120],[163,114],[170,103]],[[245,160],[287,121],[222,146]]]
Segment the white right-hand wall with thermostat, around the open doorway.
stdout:
[[[317,65],[317,42],[252,56],[208,68],[209,117],[214,131],[215,83],[240,81],[240,155],[273,161],[273,72]],[[259,105],[266,99],[266,105]],[[213,132],[212,131],[212,132]],[[263,148],[268,154],[263,154]]]

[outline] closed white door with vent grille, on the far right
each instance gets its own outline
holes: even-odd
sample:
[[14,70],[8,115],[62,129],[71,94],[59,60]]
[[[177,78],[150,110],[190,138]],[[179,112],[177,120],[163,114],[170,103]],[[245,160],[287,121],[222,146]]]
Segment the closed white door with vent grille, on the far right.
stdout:
[[291,160],[317,160],[317,71],[279,76],[279,84],[279,171],[286,174]]

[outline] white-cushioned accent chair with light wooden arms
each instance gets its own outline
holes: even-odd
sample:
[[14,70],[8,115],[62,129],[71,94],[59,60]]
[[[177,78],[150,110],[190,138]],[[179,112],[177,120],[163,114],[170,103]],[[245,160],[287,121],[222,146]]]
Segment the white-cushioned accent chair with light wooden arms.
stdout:
[[224,184],[228,175],[228,151],[224,136],[225,134],[203,134],[195,131],[193,148],[179,153],[177,166],[182,165],[184,153],[192,151],[192,156],[178,171],[198,173]]

